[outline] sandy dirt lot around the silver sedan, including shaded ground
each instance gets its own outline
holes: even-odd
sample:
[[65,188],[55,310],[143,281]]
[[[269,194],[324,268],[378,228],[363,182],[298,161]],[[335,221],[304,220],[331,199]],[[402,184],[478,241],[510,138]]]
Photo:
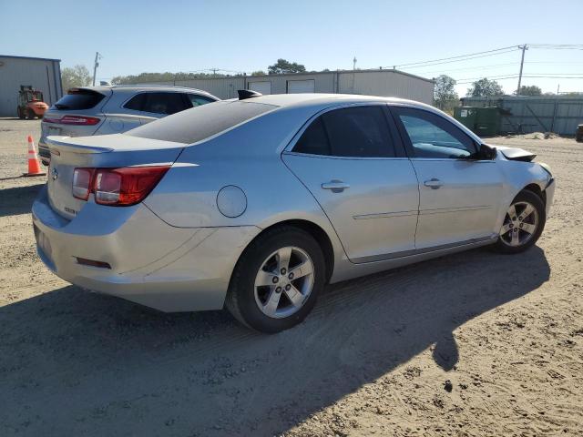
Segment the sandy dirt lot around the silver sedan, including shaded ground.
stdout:
[[574,140],[490,141],[554,169],[536,248],[476,249],[335,285],[301,326],[264,336],[224,312],[162,314],[45,269],[29,214],[44,180],[19,177],[38,131],[0,119],[0,435],[583,433]]

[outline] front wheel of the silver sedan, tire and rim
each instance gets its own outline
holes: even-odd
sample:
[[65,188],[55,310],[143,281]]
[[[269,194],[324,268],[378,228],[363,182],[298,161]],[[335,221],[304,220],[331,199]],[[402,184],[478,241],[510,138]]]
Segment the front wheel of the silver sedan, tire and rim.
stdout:
[[506,211],[495,248],[510,254],[530,248],[545,228],[546,219],[542,199],[532,191],[521,191]]

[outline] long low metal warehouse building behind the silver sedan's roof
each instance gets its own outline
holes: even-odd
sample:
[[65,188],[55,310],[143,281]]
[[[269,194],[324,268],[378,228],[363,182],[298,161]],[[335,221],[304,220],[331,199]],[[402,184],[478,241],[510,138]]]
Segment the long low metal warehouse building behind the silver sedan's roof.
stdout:
[[398,70],[343,70],[290,75],[229,76],[156,82],[199,88],[220,98],[237,97],[238,89],[261,94],[335,93],[402,97],[433,104],[434,81]]

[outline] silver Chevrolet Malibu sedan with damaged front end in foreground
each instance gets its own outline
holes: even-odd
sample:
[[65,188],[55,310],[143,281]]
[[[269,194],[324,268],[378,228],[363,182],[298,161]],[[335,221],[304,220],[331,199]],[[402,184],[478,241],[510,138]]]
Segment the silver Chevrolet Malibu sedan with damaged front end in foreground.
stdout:
[[555,181],[424,104],[261,96],[124,134],[48,137],[38,255],[80,287],[163,311],[291,328],[324,284],[479,246],[534,245]]

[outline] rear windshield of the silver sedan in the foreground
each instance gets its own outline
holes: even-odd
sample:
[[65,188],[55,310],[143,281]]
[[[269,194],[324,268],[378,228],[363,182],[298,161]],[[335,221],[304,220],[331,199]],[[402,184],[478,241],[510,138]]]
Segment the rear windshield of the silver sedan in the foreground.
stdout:
[[276,108],[239,100],[214,102],[136,127],[126,135],[192,144]]

